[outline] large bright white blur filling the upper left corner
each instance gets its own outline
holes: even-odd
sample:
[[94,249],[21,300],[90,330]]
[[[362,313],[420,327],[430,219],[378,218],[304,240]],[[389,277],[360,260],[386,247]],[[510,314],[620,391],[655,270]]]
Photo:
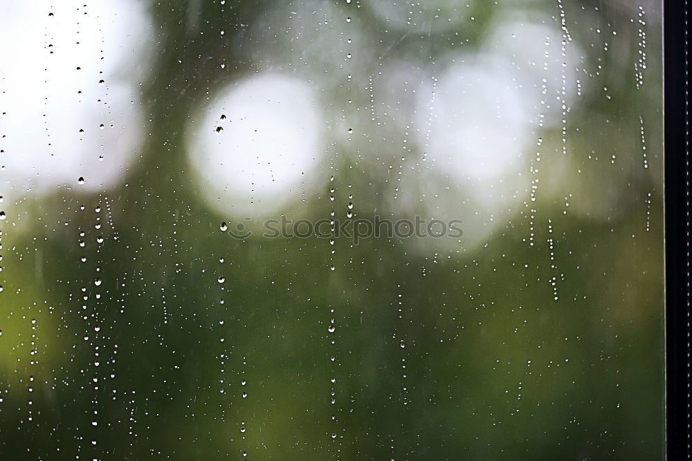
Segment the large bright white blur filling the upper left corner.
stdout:
[[0,47],[1,193],[122,180],[141,142],[151,32],[140,1],[3,2],[0,41],[11,46]]

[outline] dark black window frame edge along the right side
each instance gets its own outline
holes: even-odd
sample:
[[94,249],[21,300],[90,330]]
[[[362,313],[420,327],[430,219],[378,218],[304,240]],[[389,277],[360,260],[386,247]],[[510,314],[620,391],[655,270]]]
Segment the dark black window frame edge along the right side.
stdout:
[[666,459],[690,459],[689,0],[664,0]]

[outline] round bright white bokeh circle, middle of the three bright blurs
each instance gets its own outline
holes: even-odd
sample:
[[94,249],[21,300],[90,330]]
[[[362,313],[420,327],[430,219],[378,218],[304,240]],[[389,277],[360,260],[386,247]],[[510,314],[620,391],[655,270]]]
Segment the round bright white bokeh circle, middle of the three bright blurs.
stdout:
[[262,218],[284,211],[316,185],[324,157],[316,91],[275,73],[221,91],[190,127],[190,163],[221,214]]

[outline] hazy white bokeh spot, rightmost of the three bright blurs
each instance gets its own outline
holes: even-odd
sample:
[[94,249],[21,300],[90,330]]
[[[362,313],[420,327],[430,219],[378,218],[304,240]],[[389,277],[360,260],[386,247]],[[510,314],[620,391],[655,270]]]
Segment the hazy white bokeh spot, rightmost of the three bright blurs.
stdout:
[[418,91],[418,143],[431,164],[461,181],[518,171],[531,133],[525,95],[507,69],[487,62],[450,66]]

